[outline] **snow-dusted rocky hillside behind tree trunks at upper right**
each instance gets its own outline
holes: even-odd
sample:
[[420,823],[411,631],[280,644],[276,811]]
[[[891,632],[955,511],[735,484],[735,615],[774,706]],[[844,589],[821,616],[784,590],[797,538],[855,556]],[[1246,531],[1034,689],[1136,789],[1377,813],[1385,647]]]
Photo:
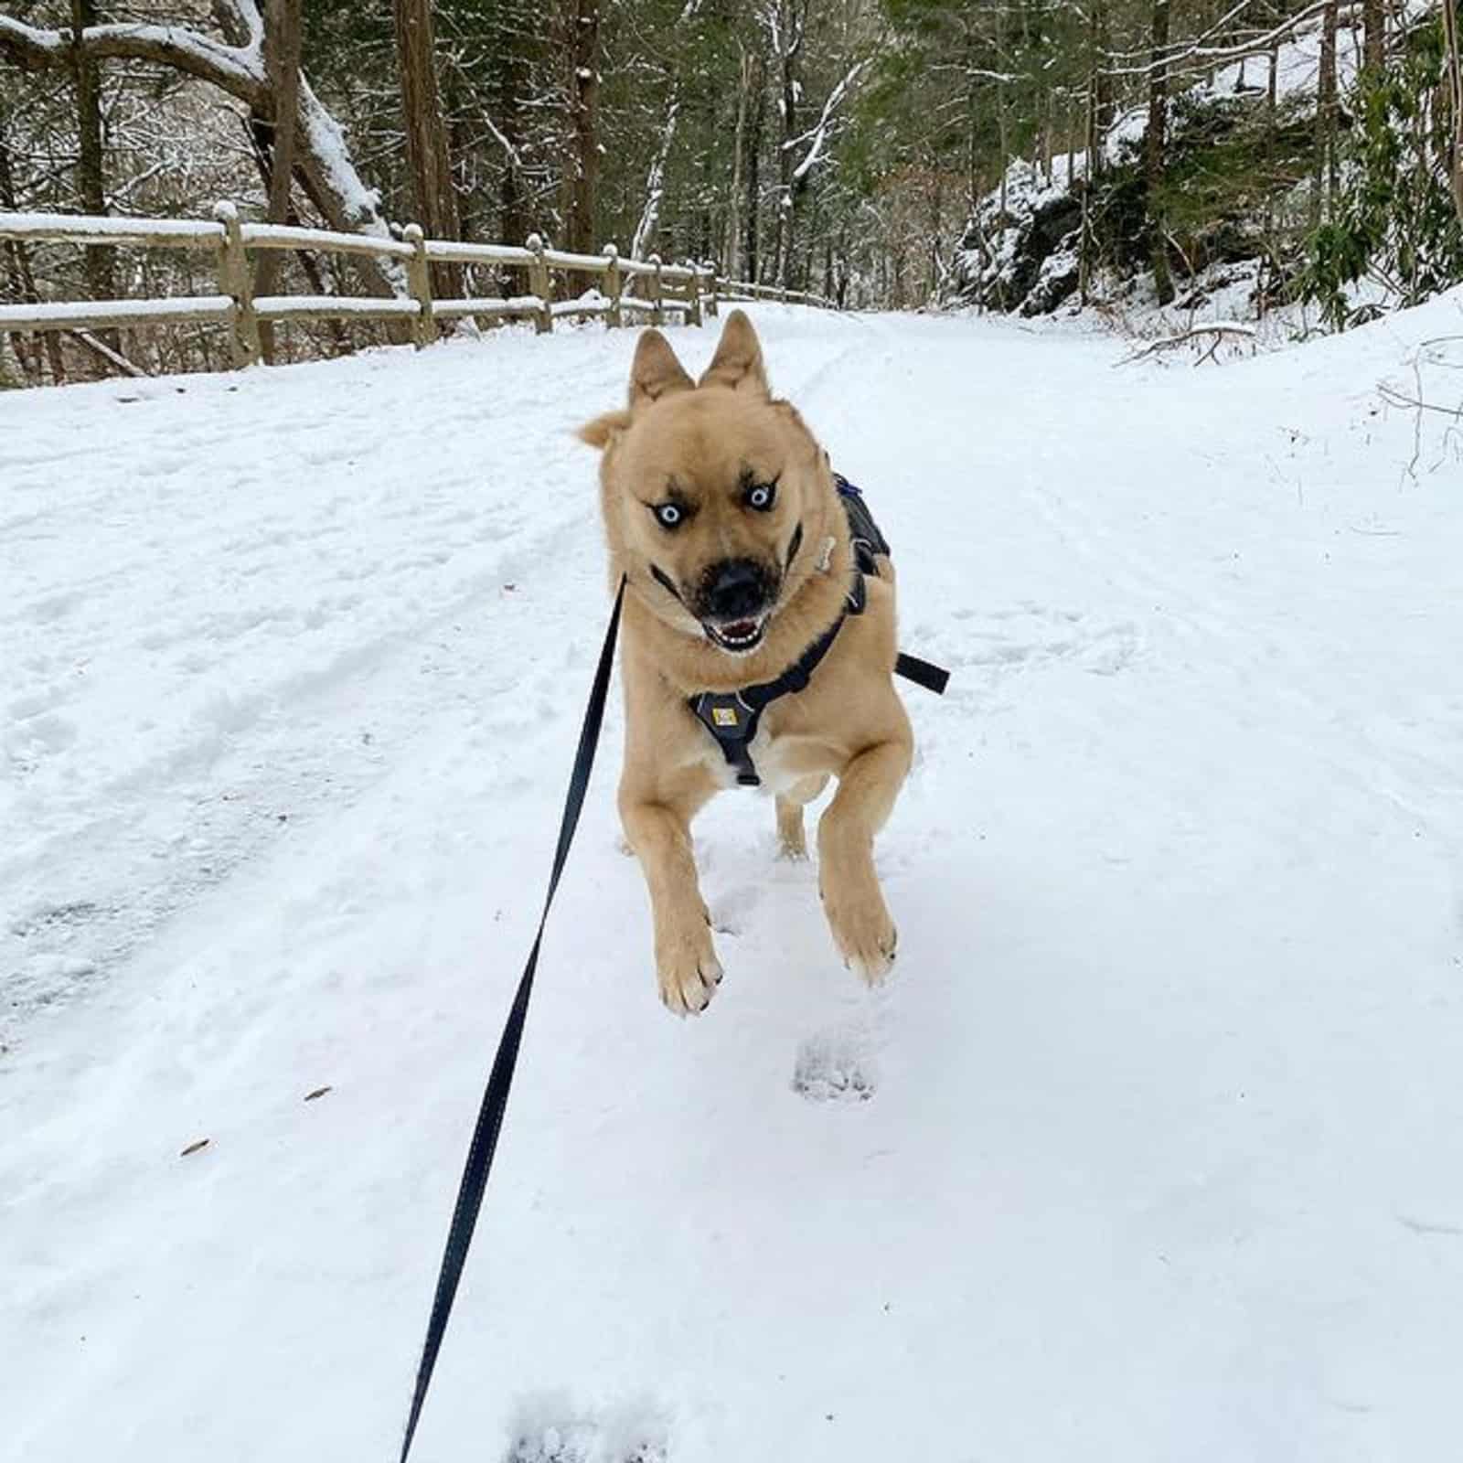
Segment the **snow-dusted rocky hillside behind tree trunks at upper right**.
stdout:
[[[1406,13],[1415,23],[1429,9],[1418,0]],[[1359,13],[1353,19],[1342,28],[1336,50],[1337,95],[1347,98],[1347,107],[1362,45]],[[1172,260],[1176,319],[1260,319],[1289,298],[1295,259],[1287,250],[1298,249],[1301,236],[1286,231],[1299,230],[1309,212],[1323,29],[1315,13],[1276,45],[1274,113],[1271,56],[1263,50],[1201,79],[1192,67],[1179,72],[1167,123],[1165,205],[1170,230],[1184,240]],[[1037,158],[1011,159],[967,221],[952,260],[952,297],[1027,317],[1064,306],[1075,310],[1087,227],[1093,301],[1124,317],[1135,334],[1163,334],[1172,322],[1157,306],[1143,225],[1147,126],[1147,98],[1113,117],[1090,195],[1087,149],[1056,152],[1045,165]],[[1286,263],[1274,275],[1279,255]],[[1267,332],[1289,338],[1305,334],[1301,326],[1299,313],[1290,312],[1270,322]]]

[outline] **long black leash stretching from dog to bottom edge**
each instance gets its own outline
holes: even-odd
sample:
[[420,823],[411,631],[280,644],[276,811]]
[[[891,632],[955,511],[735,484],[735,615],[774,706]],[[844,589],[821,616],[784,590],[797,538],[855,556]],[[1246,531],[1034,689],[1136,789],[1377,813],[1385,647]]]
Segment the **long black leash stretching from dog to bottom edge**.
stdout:
[[432,1369],[437,1364],[437,1352],[442,1349],[442,1337],[448,1328],[448,1317],[452,1314],[458,1282],[462,1279],[462,1265],[467,1263],[468,1245],[473,1244],[473,1229],[477,1226],[478,1210],[483,1207],[487,1175],[493,1167],[497,1134],[503,1127],[503,1109],[508,1106],[508,1090],[514,1083],[514,1068],[518,1065],[518,1046],[524,1037],[528,998],[534,989],[534,971],[538,969],[538,947],[543,944],[549,907],[553,904],[554,892],[559,888],[559,875],[563,873],[569,857],[569,846],[573,843],[573,831],[584,808],[584,794],[590,787],[590,772],[594,770],[594,749],[600,743],[600,727],[604,723],[604,701],[610,691],[614,639],[620,629],[620,606],[623,603],[625,579],[622,578],[619,593],[614,595],[610,628],[604,632],[604,648],[600,651],[600,666],[594,673],[590,704],[584,710],[579,749],[573,755],[573,771],[569,774],[569,796],[565,797],[563,818],[559,822],[559,847],[554,849],[553,873],[549,875],[549,895],[544,900],[544,911],[538,917],[538,933],[528,952],[528,964],[524,966],[522,977],[518,982],[514,1007],[508,1012],[508,1026],[503,1027],[503,1034],[497,1042],[497,1056],[493,1058],[493,1071],[489,1074],[487,1090],[483,1093],[483,1106],[477,1113],[473,1143],[467,1150],[467,1166],[462,1169],[462,1182],[458,1185],[458,1198],[452,1208],[452,1226],[448,1229],[448,1244],[442,1254],[442,1268],[437,1273],[437,1290],[432,1298],[432,1317],[427,1321],[427,1339],[421,1347],[421,1362],[417,1366],[417,1385],[411,1394],[411,1412],[407,1415],[407,1435],[401,1441],[401,1463],[407,1463],[407,1454],[411,1453],[411,1440],[417,1432],[421,1404],[427,1400]]

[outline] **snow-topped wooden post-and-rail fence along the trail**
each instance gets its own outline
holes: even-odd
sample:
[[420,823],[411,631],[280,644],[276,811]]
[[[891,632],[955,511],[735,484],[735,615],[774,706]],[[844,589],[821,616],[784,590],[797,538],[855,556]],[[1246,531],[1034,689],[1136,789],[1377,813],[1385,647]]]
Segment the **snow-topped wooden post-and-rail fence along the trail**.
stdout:
[[[339,234],[323,228],[282,224],[246,224],[233,203],[219,203],[212,219],[91,218],[73,214],[0,212],[0,241],[121,244],[161,249],[212,250],[217,256],[218,294],[161,300],[48,300],[0,304],[0,334],[31,331],[105,329],[138,325],[212,322],[228,332],[234,366],[262,360],[260,322],[274,320],[399,320],[418,348],[436,339],[437,320],[530,319],[538,334],[563,317],[603,316],[607,326],[625,323],[626,313],[648,316],[660,325],[670,312],[691,325],[714,316],[720,300],[781,300],[837,309],[831,300],[800,290],[745,279],[721,279],[715,265],[667,265],[660,256],[622,259],[614,244],[603,255],[575,255],[546,247],[537,234],[522,246],[467,244],[426,238],[408,224],[401,238],[373,234]],[[249,255],[260,249],[316,249],[338,255],[369,255],[401,260],[405,288],[386,297],[372,296],[255,296]],[[436,298],[432,265],[468,263],[524,269],[528,293],[508,298]],[[556,300],[553,271],[588,275],[590,288],[576,298]],[[642,296],[626,294],[626,281],[644,281]]]

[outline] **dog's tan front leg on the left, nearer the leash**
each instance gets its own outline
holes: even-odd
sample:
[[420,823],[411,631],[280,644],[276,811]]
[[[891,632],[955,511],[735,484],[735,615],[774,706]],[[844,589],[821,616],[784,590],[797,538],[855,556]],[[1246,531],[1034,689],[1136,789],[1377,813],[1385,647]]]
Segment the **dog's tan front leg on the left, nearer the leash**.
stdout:
[[650,888],[660,998],[677,1015],[704,1011],[721,983],[711,916],[701,898],[691,846],[691,818],[699,802],[652,802],[620,789],[625,840],[639,857]]

